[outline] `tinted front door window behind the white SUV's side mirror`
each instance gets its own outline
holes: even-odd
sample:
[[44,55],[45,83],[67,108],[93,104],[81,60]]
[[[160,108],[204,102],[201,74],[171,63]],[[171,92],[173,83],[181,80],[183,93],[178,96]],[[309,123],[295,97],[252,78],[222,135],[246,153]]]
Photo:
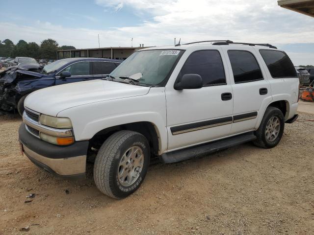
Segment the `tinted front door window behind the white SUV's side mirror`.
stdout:
[[217,50],[200,50],[193,52],[185,61],[179,73],[179,79],[184,74],[199,74],[203,86],[226,84],[224,66]]

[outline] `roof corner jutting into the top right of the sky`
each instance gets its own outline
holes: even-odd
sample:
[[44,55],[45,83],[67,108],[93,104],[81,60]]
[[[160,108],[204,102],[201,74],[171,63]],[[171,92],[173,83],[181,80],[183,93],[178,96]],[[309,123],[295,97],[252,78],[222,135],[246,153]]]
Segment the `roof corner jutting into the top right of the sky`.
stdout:
[[279,0],[278,5],[314,17],[314,0]]

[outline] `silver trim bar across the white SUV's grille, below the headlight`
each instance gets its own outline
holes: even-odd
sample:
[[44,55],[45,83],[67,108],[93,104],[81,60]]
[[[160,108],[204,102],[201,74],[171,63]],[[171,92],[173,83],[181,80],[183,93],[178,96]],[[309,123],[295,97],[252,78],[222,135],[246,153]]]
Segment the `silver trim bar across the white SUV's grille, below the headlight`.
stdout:
[[23,122],[26,125],[38,130],[39,136],[40,136],[40,133],[45,133],[47,135],[56,136],[56,137],[74,136],[73,129],[55,129],[52,127],[41,125],[41,124],[39,124],[39,122],[36,122],[31,118],[28,118],[28,116],[26,115],[26,112],[23,113]]

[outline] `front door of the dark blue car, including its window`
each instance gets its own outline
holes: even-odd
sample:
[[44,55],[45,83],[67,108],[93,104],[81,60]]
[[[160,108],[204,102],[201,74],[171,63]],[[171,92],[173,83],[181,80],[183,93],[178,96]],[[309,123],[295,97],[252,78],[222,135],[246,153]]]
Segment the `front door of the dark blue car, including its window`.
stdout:
[[[71,72],[71,76],[60,77],[62,71]],[[62,71],[56,74],[55,85],[91,80],[92,72],[91,61],[75,62],[64,68]]]

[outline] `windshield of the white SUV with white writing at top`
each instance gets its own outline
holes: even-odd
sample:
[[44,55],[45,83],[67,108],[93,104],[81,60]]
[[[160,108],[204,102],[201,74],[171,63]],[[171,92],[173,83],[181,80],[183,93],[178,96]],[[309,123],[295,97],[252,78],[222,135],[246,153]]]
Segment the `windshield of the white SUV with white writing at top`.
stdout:
[[137,51],[112,71],[110,75],[130,77],[139,83],[156,86],[166,79],[182,53],[181,50]]

